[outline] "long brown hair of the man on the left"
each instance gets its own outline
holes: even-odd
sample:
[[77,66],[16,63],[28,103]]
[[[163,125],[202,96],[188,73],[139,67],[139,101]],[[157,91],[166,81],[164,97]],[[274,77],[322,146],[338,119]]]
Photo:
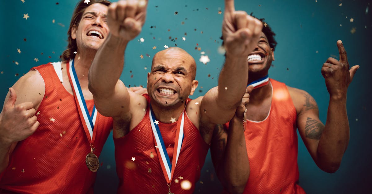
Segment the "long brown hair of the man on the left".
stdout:
[[77,44],[76,44],[76,40],[71,38],[71,29],[73,28],[74,25],[76,26],[79,25],[81,17],[83,16],[85,9],[94,3],[101,3],[101,4],[104,4],[105,6],[109,6],[111,4],[111,2],[107,0],[90,0],[89,4],[84,3],[84,0],[81,0],[76,5],[74,13],[72,14],[70,27],[68,28],[68,31],[67,31],[67,35],[68,35],[67,49],[63,51],[62,55],[60,56],[62,61],[67,61],[68,59],[75,57],[74,51],[77,50]]

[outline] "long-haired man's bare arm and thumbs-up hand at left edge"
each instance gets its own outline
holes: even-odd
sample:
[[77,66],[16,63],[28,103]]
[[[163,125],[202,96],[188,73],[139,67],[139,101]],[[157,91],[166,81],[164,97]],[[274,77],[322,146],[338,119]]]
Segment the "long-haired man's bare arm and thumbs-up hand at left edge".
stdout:
[[44,80],[37,71],[28,72],[9,89],[0,113],[0,172],[8,166],[9,156],[17,142],[38,128],[35,110],[44,93]]

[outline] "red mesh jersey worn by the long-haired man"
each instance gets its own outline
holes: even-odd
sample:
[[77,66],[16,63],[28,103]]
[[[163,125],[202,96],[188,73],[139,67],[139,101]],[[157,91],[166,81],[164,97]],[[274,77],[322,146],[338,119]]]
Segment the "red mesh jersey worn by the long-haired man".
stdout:
[[[65,90],[50,63],[34,69],[45,83],[45,96],[36,111],[40,126],[18,142],[9,166],[0,176],[0,188],[16,193],[93,193],[96,172],[85,163],[90,145],[75,98]],[[92,113],[93,100],[86,103]],[[112,129],[112,119],[97,113],[97,120],[94,153],[99,156]]]

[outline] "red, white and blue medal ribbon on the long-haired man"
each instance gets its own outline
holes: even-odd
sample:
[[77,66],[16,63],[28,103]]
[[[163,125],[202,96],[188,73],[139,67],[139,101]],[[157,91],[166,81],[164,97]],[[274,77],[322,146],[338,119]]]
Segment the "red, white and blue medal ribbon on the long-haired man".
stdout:
[[74,60],[67,61],[67,75],[68,80],[72,86],[72,90],[74,92],[75,102],[77,105],[77,109],[80,115],[81,122],[83,123],[84,131],[87,135],[88,140],[90,143],[94,142],[95,131],[93,136],[93,128],[94,124],[96,123],[97,119],[97,110],[96,106],[93,106],[92,115],[89,114],[87,104],[85,103],[83,92],[81,91],[81,87],[79,84],[79,80],[76,75],[75,67],[74,67]]

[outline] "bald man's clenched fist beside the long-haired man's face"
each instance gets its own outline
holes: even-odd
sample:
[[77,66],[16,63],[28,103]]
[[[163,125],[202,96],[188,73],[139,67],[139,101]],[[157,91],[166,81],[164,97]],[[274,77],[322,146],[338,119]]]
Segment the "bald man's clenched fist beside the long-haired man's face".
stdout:
[[147,3],[148,0],[120,0],[110,4],[107,25],[111,35],[126,41],[138,36],[145,23]]

